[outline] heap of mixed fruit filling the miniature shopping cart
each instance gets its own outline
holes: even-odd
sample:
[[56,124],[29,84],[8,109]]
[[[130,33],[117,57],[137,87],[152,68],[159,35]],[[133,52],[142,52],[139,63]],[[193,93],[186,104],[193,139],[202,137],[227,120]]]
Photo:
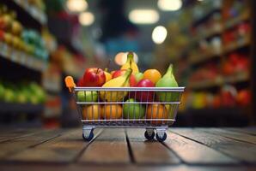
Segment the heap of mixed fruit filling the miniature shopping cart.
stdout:
[[[174,78],[173,65],[171,64],[166,74],[156,69],[148,69],[140,73],[133,53],[129,52],[127,61],[120,70],[107,72],[101,68],[88,68],[77,86],[90,87],[178,87]],[[82,109],[82,117],[85,120],[101,119],[173,119],[171,104],[163,102],[177,102],[179,92],[163,91],[78,91],[79,102],[125,102],[100,105],[94,103],[85,105]],[[140,102],[162,102],[146,104]],[[161,123],[162,121],[152,121]]]

